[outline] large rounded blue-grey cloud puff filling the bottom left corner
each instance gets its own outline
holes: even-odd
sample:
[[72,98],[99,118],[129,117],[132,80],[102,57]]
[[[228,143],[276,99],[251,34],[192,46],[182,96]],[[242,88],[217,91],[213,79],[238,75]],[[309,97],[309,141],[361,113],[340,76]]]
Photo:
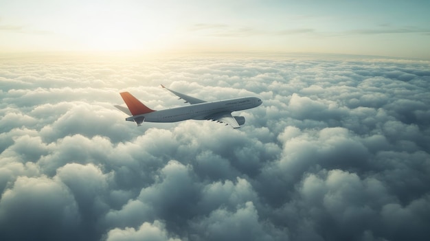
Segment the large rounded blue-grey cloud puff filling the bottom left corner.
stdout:
[[0,202],[0,233],[4,240],[81,238],[78,205],[63,183],[46,176],[21,176]]

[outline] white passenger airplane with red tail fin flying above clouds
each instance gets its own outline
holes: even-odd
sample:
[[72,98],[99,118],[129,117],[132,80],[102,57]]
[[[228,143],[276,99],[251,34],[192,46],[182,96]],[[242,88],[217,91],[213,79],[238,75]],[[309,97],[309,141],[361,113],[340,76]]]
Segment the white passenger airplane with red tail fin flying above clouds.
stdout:
[[179,97],[179,100],[185,100],[184,103],[190,103],[189,106],[179,106],[174,108],[166,108],[155,111],[148,106],[142,104],[131,93],[120,93],[122,100],[127,107],[115,105],[120,111],[130,115],[126,118],[128,122],[136,122],[137,126],[142,126],[143,122],[181,122],[186,119],[207,119],[214,122],[223,123],[233,128],[240,128],[245,124],[245,117],[233,116],[231,112],[242,111],[248,108],[254,108],[262,104],[262,100],[258,97],[240,97],[229,100],[217,100],[206,102],[177,91],[168,89],[161,84],[163,89],[174,93]]

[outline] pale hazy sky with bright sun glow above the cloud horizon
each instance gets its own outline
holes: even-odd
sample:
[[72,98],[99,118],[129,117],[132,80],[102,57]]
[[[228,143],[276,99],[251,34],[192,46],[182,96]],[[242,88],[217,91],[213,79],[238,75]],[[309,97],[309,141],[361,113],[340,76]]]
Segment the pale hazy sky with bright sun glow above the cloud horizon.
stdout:
[[430,59],[430,2],[0,1],[0,52],[304,52]]

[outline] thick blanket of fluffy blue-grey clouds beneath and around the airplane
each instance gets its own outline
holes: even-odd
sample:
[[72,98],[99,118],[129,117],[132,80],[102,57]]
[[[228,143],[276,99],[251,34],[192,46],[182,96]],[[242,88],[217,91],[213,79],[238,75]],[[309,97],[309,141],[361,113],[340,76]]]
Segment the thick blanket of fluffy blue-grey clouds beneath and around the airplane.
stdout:
[[[429,62],[4,58],[1,240],[427,240]],[[245,126],[125,122],[258,95]]]

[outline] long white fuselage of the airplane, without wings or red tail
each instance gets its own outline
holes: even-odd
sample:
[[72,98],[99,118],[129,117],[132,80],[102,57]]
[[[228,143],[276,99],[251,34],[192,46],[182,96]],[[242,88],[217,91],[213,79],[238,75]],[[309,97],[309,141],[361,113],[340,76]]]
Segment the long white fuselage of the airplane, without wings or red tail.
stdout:
[[233,112],[246,110],[262,104],[258,97],[240,97],[229,100],[218,100],[214,102],[204,102],[200,104],[191,104],[189,106],[180,106],[175,108],[166,108],[160,111],[153,111],[142,115],[134,115],[126,120],[134,121],[135,118],[144,117],[144,122],[180,122],[185,119],[207,119],[210,115],[220,112]]

